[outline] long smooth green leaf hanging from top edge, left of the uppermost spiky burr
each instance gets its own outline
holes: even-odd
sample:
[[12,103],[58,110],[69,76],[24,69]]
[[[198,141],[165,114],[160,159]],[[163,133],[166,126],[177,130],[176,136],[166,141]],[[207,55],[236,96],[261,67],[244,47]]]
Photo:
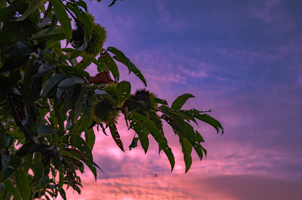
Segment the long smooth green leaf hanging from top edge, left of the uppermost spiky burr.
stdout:
[[66,38],[66,47],[69,44],[71,35],[72,35],[72,28],[70,19],[66,13],[64,8],[64,4],[61,3],[59,0],[50,0],[51,4],[53,5],[54,10],[56,11],[56,17],[63,28],[65,38]]

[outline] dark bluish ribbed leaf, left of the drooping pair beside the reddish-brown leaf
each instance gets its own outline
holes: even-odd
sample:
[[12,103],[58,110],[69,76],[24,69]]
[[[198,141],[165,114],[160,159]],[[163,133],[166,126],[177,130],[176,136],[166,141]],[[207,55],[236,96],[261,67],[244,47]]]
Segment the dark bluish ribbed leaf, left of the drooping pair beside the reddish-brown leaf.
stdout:
[[63,73],[50,76],[50,78],[44,83],[43,86],[42,102],[44,102],[51,94],[53,94],[59,82],[61,82],[64,78],[66,78],[66,75]]

